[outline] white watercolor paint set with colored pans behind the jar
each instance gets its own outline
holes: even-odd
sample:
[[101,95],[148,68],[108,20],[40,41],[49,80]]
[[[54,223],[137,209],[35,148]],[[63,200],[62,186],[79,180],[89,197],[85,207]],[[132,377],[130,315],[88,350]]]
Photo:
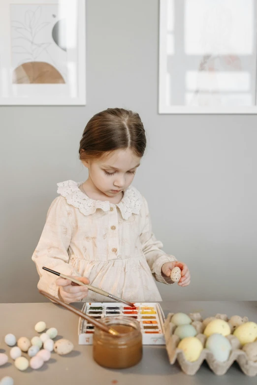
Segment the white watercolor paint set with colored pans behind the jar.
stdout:
[[[165,345],[165,321],[159,303],[135,303],[133,308],[120,302],[86,302],[82,312],[100,320],[104,317],[132,317],[140,323],[143,345]],[[79,345],[92,345],[95,326],[79,319]]]

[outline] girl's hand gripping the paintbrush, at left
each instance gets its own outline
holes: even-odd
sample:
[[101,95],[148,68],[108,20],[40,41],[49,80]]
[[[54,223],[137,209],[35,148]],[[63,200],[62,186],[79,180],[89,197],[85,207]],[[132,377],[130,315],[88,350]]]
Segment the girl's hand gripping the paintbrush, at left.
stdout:
[[[88,285],[90,282],[86,277],[72,277]],[[86,286],[79,286],[72,281],[64,278],[58,278],[56,285],[59,286],[59,296],[65,303],[80,302],[88,295]]]

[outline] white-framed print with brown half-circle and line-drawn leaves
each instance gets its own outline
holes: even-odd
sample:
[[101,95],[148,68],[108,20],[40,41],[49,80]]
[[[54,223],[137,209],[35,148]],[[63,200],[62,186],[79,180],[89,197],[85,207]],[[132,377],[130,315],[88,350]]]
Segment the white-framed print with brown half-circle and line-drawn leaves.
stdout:
[[0,105],[85,105],[85,23],[85,0],[1,0]]

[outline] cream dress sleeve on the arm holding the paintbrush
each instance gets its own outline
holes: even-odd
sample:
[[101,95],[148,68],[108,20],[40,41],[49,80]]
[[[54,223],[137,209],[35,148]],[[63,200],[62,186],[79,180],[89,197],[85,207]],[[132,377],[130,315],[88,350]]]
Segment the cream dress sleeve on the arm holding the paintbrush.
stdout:
[[71,240],[71,226],[63,197],[58,196],[51,204],[43,232],[33,253],[32,260],[39,274],[37,288],[58,298],[58,276],[48,273],[42,267],[48,267],[65,275],[80,276],[68,263],[68,247]]

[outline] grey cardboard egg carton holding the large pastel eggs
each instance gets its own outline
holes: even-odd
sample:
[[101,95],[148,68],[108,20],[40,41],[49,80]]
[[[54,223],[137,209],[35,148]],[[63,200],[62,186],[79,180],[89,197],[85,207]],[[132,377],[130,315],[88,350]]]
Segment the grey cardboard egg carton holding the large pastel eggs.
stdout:
[[[164,322],[164,337],[166,343],[166,350],[169,356],[169,361],[173,365],[176,360],[183,370],[184,373],[193,376],[200,368],[204,360],[207,361],[210,369],[218,376],[224,375],[230,366],[236,361],[241,370],[247,375],[254,377],[257,375],[257,362],[250,361],[246,353],[242,351],[239,340],[233,335],[230,334],[226,338],[230,341],[232,346],[232,351],[229,355],[229,358],[226,362],[219,362],[214,358],[213,353],[207,349],[203,349],[200,357],[195,362],[189,362],[186,360],[185,355],[181,349],[178,349],[177,346],[180,342],[180,338],[174,335],[176,325],[171,322],[171,318],[175,313],[169,313],[166,321]],[[207,337],[203,334],[204,325],[202,324],[203,320],[199,313],[191,313],[189,317],[192,320],[192,325],[197,331],[196,337],[201,341],[202,345],[205,346]],[[229,321],[228,317],[225,314],[217,314],[215,316],[217,319],[224,321]],[[247,317],[243,318],[244,322],[248,321]]]

